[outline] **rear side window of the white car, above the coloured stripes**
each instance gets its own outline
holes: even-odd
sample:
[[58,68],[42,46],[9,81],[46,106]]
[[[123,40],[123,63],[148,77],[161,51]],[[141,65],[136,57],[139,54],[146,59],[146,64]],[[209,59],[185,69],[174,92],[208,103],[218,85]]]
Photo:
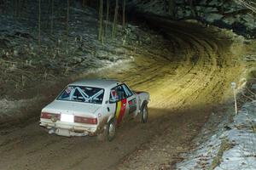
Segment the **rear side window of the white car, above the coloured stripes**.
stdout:
[[120,101],[121,99],[127,98],[127,94],[122,85],[112,88],[110,90],[109,102],[114,103]]

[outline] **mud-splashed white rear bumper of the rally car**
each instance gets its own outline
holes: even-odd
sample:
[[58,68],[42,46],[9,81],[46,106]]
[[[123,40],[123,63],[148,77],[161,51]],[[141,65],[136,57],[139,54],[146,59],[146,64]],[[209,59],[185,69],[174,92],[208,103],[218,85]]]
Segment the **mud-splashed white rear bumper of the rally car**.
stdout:
[[49,119],[41,119],[40,126],[49,129],[49,133],[55,133],[60,136],[87,136],[96,135],[100,130],[97,125],[87,125],[81,123],[70,122],[52,122]]

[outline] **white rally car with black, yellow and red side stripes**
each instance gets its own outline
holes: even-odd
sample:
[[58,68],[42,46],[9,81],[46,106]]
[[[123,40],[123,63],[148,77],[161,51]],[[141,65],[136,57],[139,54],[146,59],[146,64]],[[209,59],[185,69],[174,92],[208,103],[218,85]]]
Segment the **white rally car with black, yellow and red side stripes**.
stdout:
[[112,140],[123,119],[148,120],[149,94],[132,92],[123,82],[73,82],[41,112],[40,126],[61,136],[98,135]]

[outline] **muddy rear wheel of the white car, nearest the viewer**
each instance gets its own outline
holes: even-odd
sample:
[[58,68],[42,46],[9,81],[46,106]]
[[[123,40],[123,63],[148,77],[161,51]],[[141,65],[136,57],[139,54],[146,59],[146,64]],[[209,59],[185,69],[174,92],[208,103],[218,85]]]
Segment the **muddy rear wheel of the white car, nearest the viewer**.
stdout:
[[100,141],[112,141],[116,133],[116,121],[115,118],[112,118],[106,125],[104,131],[97,135]]

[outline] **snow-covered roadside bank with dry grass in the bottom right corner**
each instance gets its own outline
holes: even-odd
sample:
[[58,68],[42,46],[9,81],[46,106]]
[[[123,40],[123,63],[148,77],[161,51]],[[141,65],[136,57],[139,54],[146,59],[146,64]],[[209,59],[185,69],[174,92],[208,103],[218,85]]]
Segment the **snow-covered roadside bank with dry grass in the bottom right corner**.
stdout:
[[231,122],[229,118],[221,122],[210,136],[203,129],[206,136],[202,138],[206,140],[199,142],[195,150],[177,164],[177,169],[256,169],[256,100],[245,103],[231,118]]

